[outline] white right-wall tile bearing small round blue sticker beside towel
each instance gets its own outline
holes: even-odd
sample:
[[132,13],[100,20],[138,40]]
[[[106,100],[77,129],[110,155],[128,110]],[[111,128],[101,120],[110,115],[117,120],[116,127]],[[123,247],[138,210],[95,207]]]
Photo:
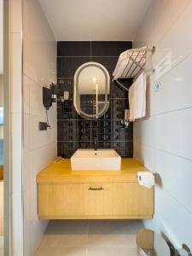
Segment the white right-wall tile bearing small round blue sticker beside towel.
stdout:
[[151,84],[151,114],[160,114],[176,109],[192,107],[191,66],[192,55],[189,55],[180,65],[172,68],[166,76],[160,78],[160,91],[155,92],[154,84]]

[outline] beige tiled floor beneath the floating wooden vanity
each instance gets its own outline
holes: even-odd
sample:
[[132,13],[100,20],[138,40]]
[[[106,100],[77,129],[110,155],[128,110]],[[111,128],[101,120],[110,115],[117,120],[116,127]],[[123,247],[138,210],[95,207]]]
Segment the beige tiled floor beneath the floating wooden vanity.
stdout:
[[51,221],[35,256],[136,256],[137,220]]

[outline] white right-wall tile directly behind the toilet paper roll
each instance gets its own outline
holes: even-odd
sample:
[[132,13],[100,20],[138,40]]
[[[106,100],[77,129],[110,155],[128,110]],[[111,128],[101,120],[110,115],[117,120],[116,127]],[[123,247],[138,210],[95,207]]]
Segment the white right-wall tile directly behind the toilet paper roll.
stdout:
[[[190,170],[192,166],[191,160],[185,160],[173,154],[154,150],[148,145],[137,142],[141,154],[139,159],[149,170],[158,175],[157,186],[165,189],[172,197],[192,212],[192,201],[189,188],[192,186]],[[139,153],[137,153],[137,156]],[[181,193],[183,191],[183,193]]]

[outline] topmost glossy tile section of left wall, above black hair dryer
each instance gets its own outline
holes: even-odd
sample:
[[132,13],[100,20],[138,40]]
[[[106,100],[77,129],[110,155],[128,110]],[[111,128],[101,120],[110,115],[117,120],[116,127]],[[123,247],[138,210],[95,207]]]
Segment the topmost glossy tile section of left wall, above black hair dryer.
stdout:
[[[24,1],[23,72],[39,86],[56,77],[56,42],[37,1]],[[40,25],[39,25],[40,24]]]

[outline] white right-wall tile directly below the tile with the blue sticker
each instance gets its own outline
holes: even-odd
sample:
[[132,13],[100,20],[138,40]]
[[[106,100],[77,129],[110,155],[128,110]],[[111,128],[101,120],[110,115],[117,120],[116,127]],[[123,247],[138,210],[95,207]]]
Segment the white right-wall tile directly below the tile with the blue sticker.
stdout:
[[192,108],[153,116],[134,126],[135,137],[143,144],[192,160],[191,120]]

